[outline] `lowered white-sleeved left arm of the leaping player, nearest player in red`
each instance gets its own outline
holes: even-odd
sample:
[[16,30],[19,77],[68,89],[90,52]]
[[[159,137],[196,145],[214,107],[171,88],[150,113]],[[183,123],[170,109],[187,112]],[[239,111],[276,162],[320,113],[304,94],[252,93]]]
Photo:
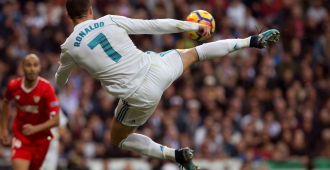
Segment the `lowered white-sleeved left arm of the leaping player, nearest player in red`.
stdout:
[[60,54],[60,63],[55,73],[55,82],[57,85],[64,85],[72,72],[72,69],[75,68],[77,64],[73,58],[66,52],[65,49],[62,49]]

